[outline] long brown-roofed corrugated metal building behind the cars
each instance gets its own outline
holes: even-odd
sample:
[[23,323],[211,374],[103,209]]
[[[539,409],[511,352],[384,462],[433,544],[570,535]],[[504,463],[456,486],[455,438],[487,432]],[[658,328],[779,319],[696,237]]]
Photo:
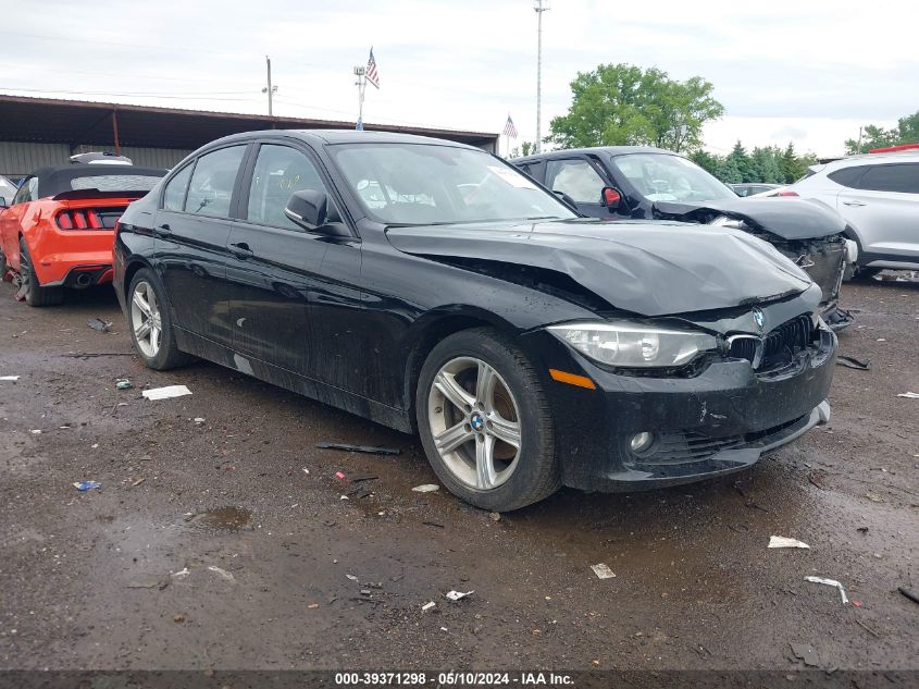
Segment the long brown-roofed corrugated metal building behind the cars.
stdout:
[[[0,95],[0,174],[22,177],[87,151],[172,168],[199,146],[237,132],[353,128],[353,122]],[[492,152],[498,145],[498,134],[483,132],[367,123],[364,128],[434,136]]]

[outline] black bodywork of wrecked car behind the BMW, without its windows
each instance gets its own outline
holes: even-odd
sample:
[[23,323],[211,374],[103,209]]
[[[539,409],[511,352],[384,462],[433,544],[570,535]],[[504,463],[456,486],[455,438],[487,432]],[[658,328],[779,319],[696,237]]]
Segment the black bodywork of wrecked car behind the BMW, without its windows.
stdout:
[[[511,162],[541,184],[548,182],[549,165],[588,164],[596,174],[596,198],[582,199],[579,212],[603,220],[666,219],[710,223],[731,219],[741,230],[766,239],[783,255],[802,266],[823,292],[823,313],[834,330],[842,330],[853,318],[837,306],[846,267],[845,221],[828,206],[796,198],[738,198],[728,186],[708,173],[713,185],[723,187],[720,198],[707,200],[653,199],[633,184],[617,164],[628,156],[682,156],[644,146],[608,146],[558,150],[517,158]],[[600,182],[601,181],[601,182]],[[622,204],[609,209],[600,202],[599,185],[612,186],[622,194]],[[784,201],[784,202],[783,202]]]

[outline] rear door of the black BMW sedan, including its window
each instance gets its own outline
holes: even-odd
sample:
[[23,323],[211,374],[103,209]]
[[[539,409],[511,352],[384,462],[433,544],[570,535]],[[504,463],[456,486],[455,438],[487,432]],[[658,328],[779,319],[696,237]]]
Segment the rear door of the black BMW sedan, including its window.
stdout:
[[157,268],[173,323],[229,346],[227,241],[249,144],[208,151],[166,182],[153,223]]

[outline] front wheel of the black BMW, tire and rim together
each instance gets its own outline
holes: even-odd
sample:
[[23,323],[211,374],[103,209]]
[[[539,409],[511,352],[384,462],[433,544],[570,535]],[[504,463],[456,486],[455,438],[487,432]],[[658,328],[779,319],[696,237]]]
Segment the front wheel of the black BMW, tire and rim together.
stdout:
[[476,507],[519,509],[561,485],[539,377],[520,347],[490,328],[455,333],[434,347],[421,369],[415,416],[435,473]]

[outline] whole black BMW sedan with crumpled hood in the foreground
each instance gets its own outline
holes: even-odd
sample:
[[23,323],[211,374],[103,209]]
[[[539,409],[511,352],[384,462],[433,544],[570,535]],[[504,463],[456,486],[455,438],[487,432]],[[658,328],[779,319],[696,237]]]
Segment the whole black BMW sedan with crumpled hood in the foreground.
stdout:
[[772,246],[582,218],[450,142],[213,142],[128,208],[114,283],[147,366],[201,357],[417,432],[489,509],[737,471],[830,414],[820,288]]

